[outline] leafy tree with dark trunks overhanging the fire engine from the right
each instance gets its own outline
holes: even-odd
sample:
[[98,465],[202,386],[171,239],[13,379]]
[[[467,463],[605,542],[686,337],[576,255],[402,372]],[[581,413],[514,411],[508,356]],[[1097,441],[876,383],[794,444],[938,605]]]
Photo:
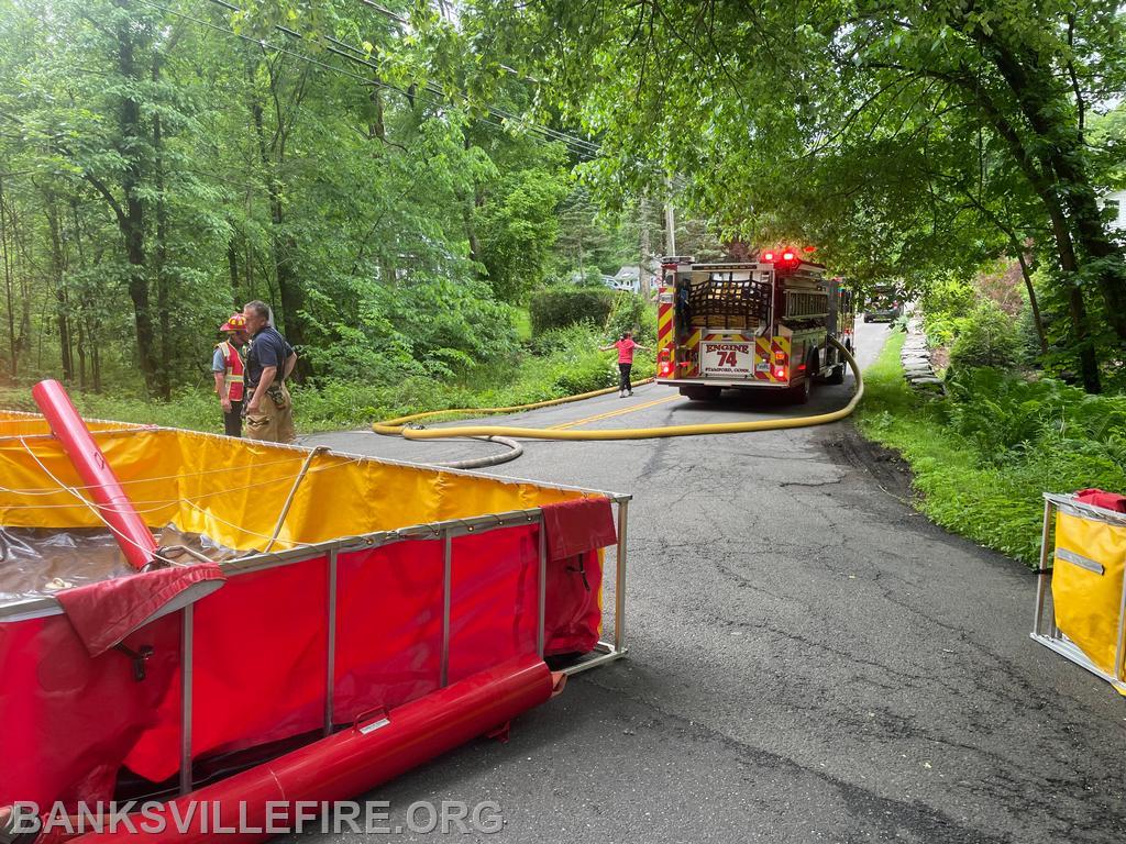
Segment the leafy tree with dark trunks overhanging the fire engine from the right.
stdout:
[[600,192],[677,185],[860,282],[918,290],[1003,254],[1031,294],[1039,263],[1064,366],[1089,392],[1120,367],[1126,263],[1098,204],[1123,178],[1121,114],[1103,116],[1126,90],[1119,3],[468,6],[471,42],[599,135]]

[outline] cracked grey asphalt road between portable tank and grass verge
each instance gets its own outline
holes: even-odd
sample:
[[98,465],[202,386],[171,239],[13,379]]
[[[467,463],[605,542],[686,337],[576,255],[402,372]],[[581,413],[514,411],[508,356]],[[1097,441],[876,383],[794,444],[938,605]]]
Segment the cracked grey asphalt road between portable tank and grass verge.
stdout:
[[[858,332],[870,362],[886,327]],[[851,387],[819,387],[803,412]],[[678,398],[593,424],[793,411]],[[497,448],[311,440],[417,461]],[[1035,578],[913,512],[902,472],[849,423],[526,448],[493,472],[635,495],[629,656],[574,677],[508,744],[472,743],[369,794],[391,803],[387,826],[418,827],[411,805],[445,800],[498,803],[500,832],[450,833],[498,844],[1126,839],[1126,700],[1031,641]]]

